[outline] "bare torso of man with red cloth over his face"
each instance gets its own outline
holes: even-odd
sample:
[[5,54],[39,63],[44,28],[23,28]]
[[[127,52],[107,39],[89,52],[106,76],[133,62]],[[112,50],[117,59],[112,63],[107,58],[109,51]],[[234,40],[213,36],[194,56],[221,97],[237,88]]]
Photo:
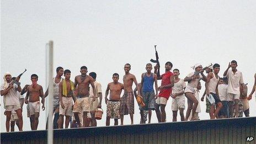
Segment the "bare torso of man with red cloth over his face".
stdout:
[[42,91],[42,86],[40,86],[39,84],[36,84],[35,88],[33,88],[31,84],[28,86],[27,90],[29,94],[29,102],[40,101],[39,97],[42,97],[42,95],[44,95],[44,92]]

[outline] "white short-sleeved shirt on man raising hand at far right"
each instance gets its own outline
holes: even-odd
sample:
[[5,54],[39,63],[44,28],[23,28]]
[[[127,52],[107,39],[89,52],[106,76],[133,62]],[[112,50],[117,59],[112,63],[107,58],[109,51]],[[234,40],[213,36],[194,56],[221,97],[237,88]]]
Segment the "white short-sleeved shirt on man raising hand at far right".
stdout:
[[243,83],[242,72],[236,71],[236,73],[233,73],[232,70],[228,70],[227,79],[227,92],[232,94],[240,94],[240,84]]

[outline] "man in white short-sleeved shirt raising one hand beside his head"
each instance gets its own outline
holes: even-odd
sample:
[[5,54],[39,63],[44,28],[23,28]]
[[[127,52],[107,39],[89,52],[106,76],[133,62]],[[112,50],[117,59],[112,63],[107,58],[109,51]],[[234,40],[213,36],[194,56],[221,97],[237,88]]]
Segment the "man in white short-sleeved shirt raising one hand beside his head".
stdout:
[[[231,67],[231,70],[229,70]],[[238,117],[238,101],[240,97],[240,90],[244,92],[244,83],[243,83],[243,75],[242,72],[237,70],[237,61],[233,60],[228,64],[227,70],[223,74],[224,77],[227,76],[228,84],[227,84],[227,97],[228,101],[235,103],[236,113],[235,118]],[[241,89],[240,89],[241,87]],[[230,118],[233,118],[233,105],[230,104]]]

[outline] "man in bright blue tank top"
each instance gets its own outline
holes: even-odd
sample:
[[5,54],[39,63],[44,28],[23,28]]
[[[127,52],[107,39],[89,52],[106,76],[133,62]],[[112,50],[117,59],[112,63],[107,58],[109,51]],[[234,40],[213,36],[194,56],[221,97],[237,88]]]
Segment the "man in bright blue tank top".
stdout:
[[[141,74],[140,92],[143,98],[143,102],[145,103],[144,107],[140,105],[142,124],[145,124],[144,110],[148,110],[148,123],[150,123],[151,115],[152,115],[151,110],[156,109],[155,105],[156,105],[156,98],[158,95],[157,74],[152,73],[151,70],[152,70],[151,63],[147,63],[146,65],[147,72]],[[156,95],[154,94],[153,85],[156,88]]]

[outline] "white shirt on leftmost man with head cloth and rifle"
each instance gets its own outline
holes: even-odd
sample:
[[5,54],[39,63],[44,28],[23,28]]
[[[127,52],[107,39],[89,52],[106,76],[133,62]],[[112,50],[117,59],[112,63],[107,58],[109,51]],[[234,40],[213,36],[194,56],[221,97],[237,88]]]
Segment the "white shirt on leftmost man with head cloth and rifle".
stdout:
[[[19,105],[19,92],[17,91],[18,85],[13,84],[13,88],[8,91],[6,95],[3,95],[5,106],[7,105]],[[4,83],[1,86],[1,90],[4,90]]]

